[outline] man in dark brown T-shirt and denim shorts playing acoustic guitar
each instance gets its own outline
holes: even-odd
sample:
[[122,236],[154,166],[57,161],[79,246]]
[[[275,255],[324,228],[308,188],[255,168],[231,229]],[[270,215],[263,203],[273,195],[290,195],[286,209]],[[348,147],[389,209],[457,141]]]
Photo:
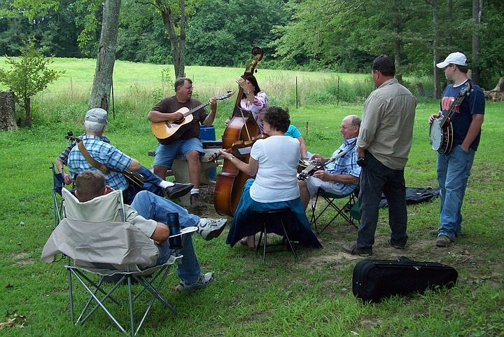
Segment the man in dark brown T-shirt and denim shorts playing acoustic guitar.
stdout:
[[[177,78],[174,86],[175,95],[165,97],[148,113],[148,120],[153,123],[168,122],[181,125],[174,135],[167,134],[166,137],[156,135],[159,144],[154,158],[154,173],[161,179],[165,179],[166,172],[172,167],[175,156],[182,154],[186,157],[189,167],[189,179],[191,184],[194,185],[190,191],[191,209],[195,212],[203,205],[199,190],[202,171],[200,156],[204,155],[203,145],[199,138],[200,123],[206,126],[214,123],[217,100],[215,98],[209,99],[209,114],[207,109],[204,108],[204,104],[191,97],[193,95],[193,81],[190,78]],[[201,109],[184,116],[187,109],[193,109],[200,105],[202,105]],[[184,120],[188,121],[188,123]]]

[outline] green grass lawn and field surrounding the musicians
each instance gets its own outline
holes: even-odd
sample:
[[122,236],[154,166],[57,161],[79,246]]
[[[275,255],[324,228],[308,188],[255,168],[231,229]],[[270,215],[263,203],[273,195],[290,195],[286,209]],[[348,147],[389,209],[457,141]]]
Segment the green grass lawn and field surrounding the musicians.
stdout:
[[[66,146],[66,132],[82,130],[94,61],[57,60],[55,67],[66,73],[34,99],[34,125],[0,132],[0,322],[22,316],[15,318],[15,326],[0,329],[0,336],[121,336],[101,312],[85,326],[73,326],[64,262],[40,261],[53,226],[49,166]],[[159,90],[165,85],[161,69],[118,62],[120,74],[116,73],[114,85],[122,93],[116,95],[115,117],[110,118],[106,132],[113,144],[147,167],[153,163],[147,151],[156,142],[146,113],[163,92],[171,92],[170,88]],[[200,97],[235,88],[234,79],[242,72],[188,67],[188,76],[197,78],[195,93]],[[292,89],[296,76],[298,83],[307,83],[297,109]],[[325,85],[334,85],[337,76],[258,71],[272,102],[289,107],[309,151],[325,156],[341,142],[337,125],[342,118],[362,111],[360,101],[322,104],[323,95],[318,94],[325,92]],[[353,83],[368,81],[366,76],[345,76]],[[289,88],[288,93],[281,85]],[[347,88],[341,90],[353,90]],[[318,104],[309,103],[316,99]],[[232,104],[232,99],[219,103],[217,135],[223,133]],[[421,99],[416,110],[414,142],[405,170],[407,186],[436,186],[435,152],[428,145],[426,121],[437,106],[438,102]],[[409,242],[404,251],[387,245],[388,211],[380,211],[373,258],[408,256],[447,263],[459,273],[454,289],[394,297],[374,305],[356,300],[351,276],[359,259],[340,252],[344,243],[355,240],[356,230],[341,220],[319,235],[323,249],[300,247],[297,261],[290,253],[279,252],[269,254],[262,263],[245,247],[225,245],[225,230],[209,242],[194,238],[202,269],[215,272],[214,284],[202,291],[176,293],[171,286],[178,281],[172,273],[163,294],[178,315],[155,305],[140,336],[504,336],[502,111],[502,104],[486,103],[482,142],[462,209],[464,235],[454,245],[436,248],[435,238],[428,233],[437,227],[438,200],[408,207]],[[212,205],[205,214],[216,216]]]

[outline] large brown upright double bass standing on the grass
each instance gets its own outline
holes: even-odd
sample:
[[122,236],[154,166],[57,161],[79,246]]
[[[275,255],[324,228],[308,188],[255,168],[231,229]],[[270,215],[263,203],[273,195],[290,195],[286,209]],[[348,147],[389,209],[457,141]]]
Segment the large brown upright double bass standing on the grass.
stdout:
[[[252,55],[253,57],[246,65],[242,78],[253,75],[255,66],[262,59],[262,48],[252,48]],[[232,144],[237,141],[250,141],[260,134],[259,125],[255,122],[251,112],[241,109],[243,89],[240,86],[238,88],[237,102],[223,135],[223,149],[231,148]],[[245,154],[239,159],[248,163],[248,158],[250,156]],[[214,191],[214,206],[218,214],[235,216],[241,191],[243,191],[245,181],[248,178],[251,177],[238,170],[230,160],[224,159],[223,169],[217,176]]]

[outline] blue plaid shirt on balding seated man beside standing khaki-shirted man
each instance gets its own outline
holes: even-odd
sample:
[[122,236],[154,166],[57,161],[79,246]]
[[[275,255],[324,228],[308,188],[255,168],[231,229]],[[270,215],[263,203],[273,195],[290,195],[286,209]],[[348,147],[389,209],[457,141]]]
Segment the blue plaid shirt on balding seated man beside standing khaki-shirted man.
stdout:
[[[344,156],[337,158],[337,160],[325,166],[325,172],[330,174],[349,174],[353,177],[360,176],[360,166],[357,165],[357,151],[356,151],[357,137],[344,139],[343,144],[332,153],[331,158],[335,158],[338,153],[350,149]],[[352,149],[353,148],[353,149]],[[350,193],[357,187],[358,184],[342,184],[344,186],[343,192]]]

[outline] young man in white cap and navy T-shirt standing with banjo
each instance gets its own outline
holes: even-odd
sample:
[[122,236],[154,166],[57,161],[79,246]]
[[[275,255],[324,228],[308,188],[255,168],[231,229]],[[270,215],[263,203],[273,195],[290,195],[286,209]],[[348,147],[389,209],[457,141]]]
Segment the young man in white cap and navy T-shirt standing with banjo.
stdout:
[[[446,60],[437,63],[436,66],[444,69],[444,76],[453,82],[444,89],[440,112],[429,118],[429,123],[434,126],[434,123],[440,121],[448,111],[451,110],[452,113],[447,121],[449,129],[447,123],[441,126],[453,135],[446,135],[447,132],[443,134],[445,130],[440,132],[441,137],[453,137],[448,142],[449,149],[435,149],[433,146],[433,149],[438,151],[437,183],[440,186],[441,199],[440,228],[437,230],[436,246],[447,247],[462,234],[462,201],[472,161],[479,145],[484,115],[484,95],[481,88],[468,78],[467,57],[463,53],[451,53]],[[463,90],[467,93],[460,95]],[[458,105],[452,104],[459,98],[462,100]]]

